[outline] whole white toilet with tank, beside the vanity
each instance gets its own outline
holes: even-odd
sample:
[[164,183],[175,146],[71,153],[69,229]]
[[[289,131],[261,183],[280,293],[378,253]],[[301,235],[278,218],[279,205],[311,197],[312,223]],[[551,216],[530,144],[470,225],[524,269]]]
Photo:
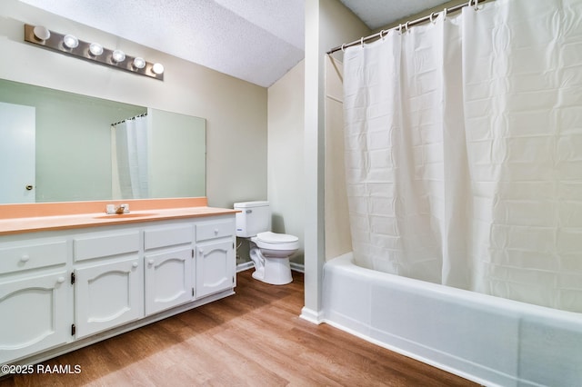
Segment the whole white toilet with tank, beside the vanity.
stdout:
[[235,203],[236,236],[250,240],[250,257],[255,263],[253,278],[264,283],[291,283],[289,256],[299,248],[299,238],[286,233],[271,233],[271,208],[268,202]]

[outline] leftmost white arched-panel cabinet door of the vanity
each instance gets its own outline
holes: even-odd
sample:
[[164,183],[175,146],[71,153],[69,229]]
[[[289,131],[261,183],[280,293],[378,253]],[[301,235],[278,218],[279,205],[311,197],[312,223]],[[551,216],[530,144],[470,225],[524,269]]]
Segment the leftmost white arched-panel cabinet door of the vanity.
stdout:
[[73,322],[66,272],[0,284],[0,364],[67,342]]

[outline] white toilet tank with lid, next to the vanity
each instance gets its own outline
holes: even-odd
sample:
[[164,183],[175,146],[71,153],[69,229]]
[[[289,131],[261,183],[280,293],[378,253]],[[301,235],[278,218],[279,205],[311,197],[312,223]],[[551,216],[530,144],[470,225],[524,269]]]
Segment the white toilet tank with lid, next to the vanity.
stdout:
[[271,207],[268,202],[235,203],[236,236],[249,238],[257,233],[271,231]]

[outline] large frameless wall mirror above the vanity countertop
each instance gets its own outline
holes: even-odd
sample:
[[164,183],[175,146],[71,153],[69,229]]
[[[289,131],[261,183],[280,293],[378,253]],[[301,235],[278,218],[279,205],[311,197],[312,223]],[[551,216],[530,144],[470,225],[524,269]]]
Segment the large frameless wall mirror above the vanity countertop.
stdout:
[[206,196],[206,120],[0,80],[0,203]]

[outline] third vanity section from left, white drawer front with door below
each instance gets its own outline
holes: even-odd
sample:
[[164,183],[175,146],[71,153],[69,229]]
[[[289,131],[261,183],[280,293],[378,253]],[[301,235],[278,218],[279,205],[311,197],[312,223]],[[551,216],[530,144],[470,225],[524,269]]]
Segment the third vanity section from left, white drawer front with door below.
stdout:
[[146,315],[192,301],[192,225],[144,232]]

